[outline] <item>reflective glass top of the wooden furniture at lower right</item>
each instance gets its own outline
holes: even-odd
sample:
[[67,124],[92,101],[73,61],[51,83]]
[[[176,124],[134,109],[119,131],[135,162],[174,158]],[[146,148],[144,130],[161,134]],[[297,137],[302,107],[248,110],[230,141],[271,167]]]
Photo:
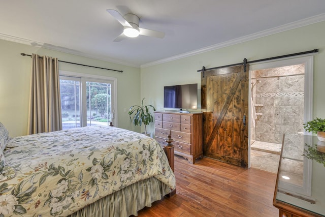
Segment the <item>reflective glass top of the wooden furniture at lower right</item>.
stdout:
[[[317,136],[283,136],[275,199],[325,216],[325,142]],[[317,149],[318,146],[318,149]]]

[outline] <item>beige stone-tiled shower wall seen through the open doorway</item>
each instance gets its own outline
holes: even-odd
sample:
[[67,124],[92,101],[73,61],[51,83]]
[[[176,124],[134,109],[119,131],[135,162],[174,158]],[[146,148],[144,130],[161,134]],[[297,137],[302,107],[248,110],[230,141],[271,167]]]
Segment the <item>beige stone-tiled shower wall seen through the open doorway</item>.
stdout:
[[281,144],[284,133],[303,132],[304,75],[296,74],[304,72],[304,64],[251,72],[251,82],[261,81],[252,93],[257,119],[251,138]]

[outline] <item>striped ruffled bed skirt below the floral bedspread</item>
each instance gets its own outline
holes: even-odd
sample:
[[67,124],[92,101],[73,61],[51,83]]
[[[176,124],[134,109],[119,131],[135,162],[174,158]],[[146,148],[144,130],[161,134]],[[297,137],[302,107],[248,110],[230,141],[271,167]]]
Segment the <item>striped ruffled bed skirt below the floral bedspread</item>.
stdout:
[[150,207],[154,201],[161,200],[170,192],[171,189],[165,183],[151,177],[101,198],[69,216],[137,216],[140,209]]

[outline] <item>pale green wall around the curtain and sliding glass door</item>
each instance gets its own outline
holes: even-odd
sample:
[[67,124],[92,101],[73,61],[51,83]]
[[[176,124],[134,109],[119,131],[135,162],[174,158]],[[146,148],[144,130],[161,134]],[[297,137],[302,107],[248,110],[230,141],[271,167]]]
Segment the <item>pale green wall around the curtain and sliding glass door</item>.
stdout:
[[4,40],[0,40],[0,48],[0,122],[4,123],[10,136],[22,136],[27,133],[31,58],[21,56],[20,53],[37,53],[73,63],[122,70],[123,73],[118,73],[59,63],[59,70],[117,78],[118,127],[140,132],[140,128],[133,127],[127,112],[124,112],[124,108],[128,110],[140,101],[139,68]]

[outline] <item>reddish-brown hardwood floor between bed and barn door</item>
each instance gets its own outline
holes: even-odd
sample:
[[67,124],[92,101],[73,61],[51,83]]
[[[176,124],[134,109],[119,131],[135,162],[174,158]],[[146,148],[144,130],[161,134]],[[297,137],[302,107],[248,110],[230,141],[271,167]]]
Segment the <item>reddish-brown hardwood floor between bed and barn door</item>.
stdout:
[[276,174],[203,158],[191,165],[175,156],[177,193],[138,216],[279,216],[272,205]]

